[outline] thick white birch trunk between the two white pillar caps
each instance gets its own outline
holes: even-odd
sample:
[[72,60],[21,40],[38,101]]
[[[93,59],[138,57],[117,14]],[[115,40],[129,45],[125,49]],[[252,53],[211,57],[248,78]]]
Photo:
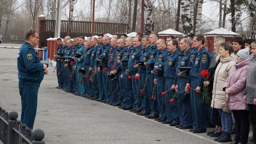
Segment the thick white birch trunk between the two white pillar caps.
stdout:
[[193,26],[191,22],[191,10],[190,10],[190,1],[181,0],[181,20],[185,36],[193,33]]

